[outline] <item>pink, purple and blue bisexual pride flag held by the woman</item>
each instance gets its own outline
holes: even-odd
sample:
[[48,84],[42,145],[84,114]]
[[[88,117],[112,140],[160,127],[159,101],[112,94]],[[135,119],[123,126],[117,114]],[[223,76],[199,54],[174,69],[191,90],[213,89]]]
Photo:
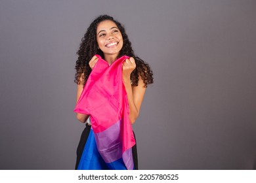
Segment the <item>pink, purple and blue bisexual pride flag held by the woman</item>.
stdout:
[[89,114],[91,132],[77,169],[134,169],[135,137],[122,79],[122,56],[111,65],[100,56],[74,112]]

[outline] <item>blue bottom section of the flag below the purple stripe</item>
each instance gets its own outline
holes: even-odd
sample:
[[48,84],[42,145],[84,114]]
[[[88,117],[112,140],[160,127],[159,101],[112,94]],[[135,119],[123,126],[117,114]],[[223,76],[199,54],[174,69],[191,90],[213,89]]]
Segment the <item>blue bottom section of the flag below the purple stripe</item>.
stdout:
[[85,144],[83,154],[77,167],[78,170],[126,170],[123,159],[117,159],[111,163],[105,163],[104,159],[98,153],[95,135],[93,129],[89,133],[89,137]]

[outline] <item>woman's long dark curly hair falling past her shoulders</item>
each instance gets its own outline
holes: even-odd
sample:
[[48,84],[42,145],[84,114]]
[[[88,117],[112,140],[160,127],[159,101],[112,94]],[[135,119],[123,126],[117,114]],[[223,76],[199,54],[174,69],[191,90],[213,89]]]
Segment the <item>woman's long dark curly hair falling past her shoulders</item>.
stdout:
[[98,18],[96,18],[88,27],[87,32],[81,39],[82,42],[80,44],[79,50],[77,51],[78,59],[75,64],[76,73],[74,82],[77,84],[83,84],[84,86],[87,78],[91,73],[91,67],[89,66],[89,61],[91,60],[91,58],[93,58],[93,56],[95,56],[96,54],[104,58],[104,54],[102,50],[98,49],[98,43],[96,41],[97,25],[104,20],[111,20],[112,22],[114,22],[123,37],[123,47],[121,48],[117,58],[120,58],[121,56],[129,56],[135,59],[136,68],[131,73],[132,86],[138,86],[139,75],[144,82],[144,87],[147,87],[148,84],[152,84],[153,73],[150,69],[150,66],[148,65],[148,63],[135,56],[133,48],[131,48],[131,42],[129,41],[128,36],[125,33],[123,25],[114,20],[112,16],[108,15],[98,16]]

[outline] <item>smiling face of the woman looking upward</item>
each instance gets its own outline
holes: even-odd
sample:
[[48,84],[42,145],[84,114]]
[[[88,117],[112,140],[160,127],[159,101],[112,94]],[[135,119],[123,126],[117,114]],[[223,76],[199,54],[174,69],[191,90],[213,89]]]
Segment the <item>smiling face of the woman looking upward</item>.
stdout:
[[102,50],[104,56],[118,56],[123,47],[123,37],[117,25],[111,20],[100,22],[96,29],[96,40],[98,48]]

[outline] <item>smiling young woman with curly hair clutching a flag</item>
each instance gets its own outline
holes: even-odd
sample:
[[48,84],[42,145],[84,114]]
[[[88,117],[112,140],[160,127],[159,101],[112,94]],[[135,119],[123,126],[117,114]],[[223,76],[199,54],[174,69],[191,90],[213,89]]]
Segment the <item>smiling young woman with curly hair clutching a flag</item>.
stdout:
[[[153,83],[152,70],[147,63],[135,56],[124,27],[111,16],[98,16],[88,27],[77,51],[78,59],[75,65],[75,82],[77,83],[76,102],[79,100],[87,79],[98,61],[98,57],[95,56],[96,54],[107,61],[108,65],[112,65],[121,56],[129,56],[122,63],[122,79],[129,103],[129,120],[131,124],[134,124],[139,116],[146,87],[148,84]],[[87,122],[77,147],[75,169],[80,169],[79,162],[82,154],[85,153],[83,150],[87,139],[90,137],[91,122],[87,114],[76,113],[76,117],[82,123]],[[132,149],[134,169],[138,169],[136,144]],[[108,167],[96,165],[95,169],[108,169]]]

